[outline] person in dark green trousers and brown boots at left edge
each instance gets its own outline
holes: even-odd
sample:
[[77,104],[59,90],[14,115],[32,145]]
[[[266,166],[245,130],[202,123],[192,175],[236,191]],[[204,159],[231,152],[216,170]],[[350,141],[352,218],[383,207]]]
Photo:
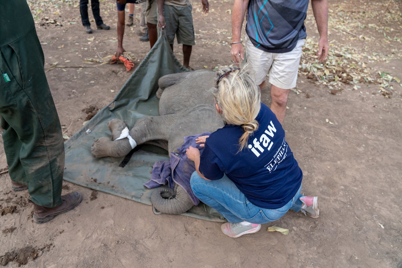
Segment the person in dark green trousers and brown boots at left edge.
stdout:
[[26,0],[0,5],[0,116],[11,187],[28,189],[33,220],[45,223],[77,207],[82,194],[61,195],[62,129]]

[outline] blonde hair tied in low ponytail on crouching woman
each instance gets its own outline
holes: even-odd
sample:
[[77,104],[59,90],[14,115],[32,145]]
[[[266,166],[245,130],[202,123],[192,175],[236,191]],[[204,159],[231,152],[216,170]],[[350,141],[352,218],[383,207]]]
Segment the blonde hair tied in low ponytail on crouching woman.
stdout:
[[230,125],[242,127],[239,150],[247,146],[248,138],[258,129],[255,120],[261,108],[260,88],[247,66],[225,67],[217,71],[216,87],[212,94],[222,110],[220,116]]

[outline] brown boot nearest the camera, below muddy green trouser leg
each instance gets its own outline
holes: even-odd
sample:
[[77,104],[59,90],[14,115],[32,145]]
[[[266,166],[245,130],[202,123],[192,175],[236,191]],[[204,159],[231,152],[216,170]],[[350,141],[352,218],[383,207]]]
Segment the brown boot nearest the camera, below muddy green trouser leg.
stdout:
[[82,201],[82,194],[79,192],[70,192],[62,195],[62,205],[58,207],[42,207],[33,204],[33,221],[35,223],[45,223],[59,214],[65,213],[77,207]]

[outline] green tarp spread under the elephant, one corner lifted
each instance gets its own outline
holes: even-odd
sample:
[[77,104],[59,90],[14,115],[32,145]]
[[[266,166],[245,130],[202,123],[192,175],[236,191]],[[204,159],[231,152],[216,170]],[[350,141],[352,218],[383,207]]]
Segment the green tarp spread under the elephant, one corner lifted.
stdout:
[[[137,119],[148,115],[158,115],[158,99],[155,97],[158,79],[166,74],[188,71],[174,57],[162,33],[113,102],[100,110],[65,142],[64,179],[94,190],[151,205],[150,196],[153,189],[148,189],[143,184],[150,180],[150,172],[156,161],[169,159],[168,152],[153,145],[140,145],[139,150],[133,153],[127,165],[121,168],[119,164],[123,158],[94,158],[91,155],[91,145],[99,137],[111,137],[107,122],[113,118],[125,121],[131,129]],[[151,211],[150,209],[150,213]],[[183,215],[209,221],[226,221],[217,211],[202,202]]]

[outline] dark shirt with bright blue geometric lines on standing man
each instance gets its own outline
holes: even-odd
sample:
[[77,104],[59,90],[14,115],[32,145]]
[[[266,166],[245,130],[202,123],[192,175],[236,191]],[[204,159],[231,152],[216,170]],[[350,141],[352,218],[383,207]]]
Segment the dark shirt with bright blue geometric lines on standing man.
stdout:
[[271,53],[291,51],[306,38],[304,20],[309,0],[250,0],[246,33],[258,49]]

